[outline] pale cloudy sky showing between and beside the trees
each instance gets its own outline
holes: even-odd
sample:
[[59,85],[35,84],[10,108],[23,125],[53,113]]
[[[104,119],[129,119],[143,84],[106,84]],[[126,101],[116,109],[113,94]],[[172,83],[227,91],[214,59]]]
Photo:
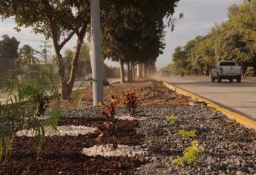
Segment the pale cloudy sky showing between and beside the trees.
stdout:
[[[231,4],[240,4],[243,0],[180,0],[175,9],[174,16],[184,13],[184,18],[179,19],[175,24],[174,31],[166,29],[165,43],[166,47],[163,55],[157,58],[157,69],[165,67],[171,63],[171,56],[174,48],[183,46],[196,36],[206,35],[215,23],[225,22],[227,20],[227,8]],[[13,19],[0,21],[0,36],[8,34],[14,36],[20,42],[20,46],[30,44],[36,50],[42,50],[40,45],[45,37],[35,35],[30,28],[23,28],[20,33],[13,29],[16,24]],[[76,44],[76,38],[68,42],[63,50],[72,48]],[[150,44],[150,43],[149,43]],[[54,53],[53,49],[50,49]],[[118,66],[117,62],[106,62],[107,65]]]

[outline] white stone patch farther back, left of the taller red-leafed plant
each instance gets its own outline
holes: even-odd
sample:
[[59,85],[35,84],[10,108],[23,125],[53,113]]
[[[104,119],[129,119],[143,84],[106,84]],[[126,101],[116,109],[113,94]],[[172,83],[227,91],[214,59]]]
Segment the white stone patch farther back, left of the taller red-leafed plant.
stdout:
[[[74,126],[74,125],[62,125],[58,126],[58,131],[59,132],[49,132],[46,131],[45,136],[78,136],[79,134],[81,135],[86,135],[88,133],[94,133],[96,131],[95,128],[92,127],[86,127],[86,126]],[[31,130],[22,130],[18,131],[16,133],[17,136],[35,136],[36,131],[33,129]]]

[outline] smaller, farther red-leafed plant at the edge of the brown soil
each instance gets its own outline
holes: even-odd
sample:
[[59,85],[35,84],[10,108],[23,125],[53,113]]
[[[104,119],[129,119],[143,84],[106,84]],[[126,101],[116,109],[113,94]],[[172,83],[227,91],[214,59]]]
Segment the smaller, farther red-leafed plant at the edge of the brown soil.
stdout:
[[130,116],[134,116],[137,108],[141,105],[140,96],[137,94],[136,89],[130,91],[124,91],[123,105],[128,110]]

